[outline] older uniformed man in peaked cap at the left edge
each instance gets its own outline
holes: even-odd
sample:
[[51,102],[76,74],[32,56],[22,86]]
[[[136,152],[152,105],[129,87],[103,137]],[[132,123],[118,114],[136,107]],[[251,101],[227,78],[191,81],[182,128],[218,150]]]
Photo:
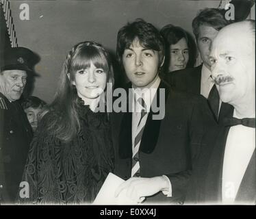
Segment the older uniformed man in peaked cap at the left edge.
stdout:
[[0,203],[14,203],[18,195],[32,138],[27,116],[18,99],[27,81],[29,58],[24,47],[3,51],[0,62]]

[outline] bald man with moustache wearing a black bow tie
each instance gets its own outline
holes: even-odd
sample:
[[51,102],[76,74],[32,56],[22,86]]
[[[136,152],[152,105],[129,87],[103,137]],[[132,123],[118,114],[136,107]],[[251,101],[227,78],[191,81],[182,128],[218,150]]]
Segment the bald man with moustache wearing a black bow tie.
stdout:
[[220,30],[210,60],[220,99],[233,105],[233,118],[224,118],[202,140],[187,201],[255,204],[255,21]]

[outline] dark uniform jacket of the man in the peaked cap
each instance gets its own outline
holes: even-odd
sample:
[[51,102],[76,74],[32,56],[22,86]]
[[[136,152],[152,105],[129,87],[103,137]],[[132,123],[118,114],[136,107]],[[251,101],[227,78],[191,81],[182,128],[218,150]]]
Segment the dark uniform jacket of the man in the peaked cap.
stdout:
[[31,138],[21,105],[8,101],[0,92],[0,203],[16,199]]

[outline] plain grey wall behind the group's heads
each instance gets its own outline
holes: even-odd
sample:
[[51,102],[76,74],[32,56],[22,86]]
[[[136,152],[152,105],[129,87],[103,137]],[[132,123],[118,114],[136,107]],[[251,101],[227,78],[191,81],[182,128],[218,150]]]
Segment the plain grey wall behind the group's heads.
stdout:
[[[21,3],[29,5],[29,21],[21,21]],[[192,19],[203,8],[217,8],[220,1],[182,0],[92,0],[10,1],[18,45],[40,55],[32,92],[44,101],[53,100],[66,53],[77,42],[94,40],[113,54],[116,34],[135,18],[158,28],[168,23],[192,33]]]

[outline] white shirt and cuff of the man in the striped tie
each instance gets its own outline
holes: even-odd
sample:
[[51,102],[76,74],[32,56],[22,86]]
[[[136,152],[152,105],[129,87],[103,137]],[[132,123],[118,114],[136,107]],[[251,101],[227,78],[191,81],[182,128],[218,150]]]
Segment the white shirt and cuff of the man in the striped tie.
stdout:
[[[148,114],[151,108],[151,104],[153,102],[153,99],[155,97],[155,94],[157,92],[157,88],[159,87],[159,84],[161,82],[161,79],[159,78],[159,76],[157,76],[157,79],[155,80],[155,82],[151,85],[150,88],[144,88],[144,89],[140,89],[140,88],[133,88],[133,114],[132,114],[132,128],[131,128],[131,135],[132,135],[132,151],[134,153],[134,140],[136,138],[136,135],[138,133],[138,130],[141,129],[141,127],[143,127],[146,124],[146,119],[148,118]],[[141,110],[142,107],[140,104],[138,104],[138,99],[142,97],[144,99],[145,105],[146,105],[146,114],[145,116],[142,118],[142,120],[140,121],[140,116],[141,116]],[[140,125],[138,126],[138,123],[140,122]],[[168,197],[172,196],[172,185],[170,183],[170,180],[168,177],[166,177],[165,175],[163,176],[165,177],[168,182],[169,182],[169,186],[168,186],[168,190],[162,191],[163,194],[165,194]]]

